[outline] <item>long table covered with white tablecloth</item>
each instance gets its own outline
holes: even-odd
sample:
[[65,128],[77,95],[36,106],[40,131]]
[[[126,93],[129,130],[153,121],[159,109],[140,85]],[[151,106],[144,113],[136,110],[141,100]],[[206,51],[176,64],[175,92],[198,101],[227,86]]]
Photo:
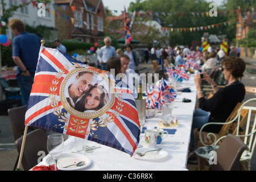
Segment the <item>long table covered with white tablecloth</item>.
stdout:
[[[173,115],[178,119],[178,126],[175,134],[169,134],[157,147],[163,148],[168,152],[168,156],[161,160],[139,160],[131,157],[125,152],[115,150],[114,148],[103,146],[101,144],[87,141],[87,146],[100,146],[94,152],[84,154],[91,159],[91,165],[81,170],[98,171],[186,171],[187,156],[189,151],[190,133],[195,102],[197,99],[193,76],[189,81],[184,81],[181,86],[187,86],[191,92],[178,92],[178,96],[173,103]],[[183,98],[188,98],[191,102],[182,102]],[[145,122],[147,129],[153,129],[158,126],[161,113],[154,118],[148,118]],[[145,146],[144,134],[141,134],[139,144]],[[64,153],[75,152],[74,137],[69,136],[65,140]],[[38,166],[46,165],[41,162]]]

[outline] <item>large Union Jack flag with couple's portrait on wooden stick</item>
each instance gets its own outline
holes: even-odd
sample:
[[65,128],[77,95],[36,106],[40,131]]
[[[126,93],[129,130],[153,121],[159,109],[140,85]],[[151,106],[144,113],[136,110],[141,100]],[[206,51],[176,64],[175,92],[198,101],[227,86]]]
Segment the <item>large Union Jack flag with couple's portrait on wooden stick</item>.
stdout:
[[[102,92],[105,105],[88,113],[76,110],[66,98],[70,85],[84,71],[110,91]],[[119,82],[107,71],[85,65],[57,49],[41,47],[25,125],[85,138],[133,155],[139,143],[138,111],[131,90]]]

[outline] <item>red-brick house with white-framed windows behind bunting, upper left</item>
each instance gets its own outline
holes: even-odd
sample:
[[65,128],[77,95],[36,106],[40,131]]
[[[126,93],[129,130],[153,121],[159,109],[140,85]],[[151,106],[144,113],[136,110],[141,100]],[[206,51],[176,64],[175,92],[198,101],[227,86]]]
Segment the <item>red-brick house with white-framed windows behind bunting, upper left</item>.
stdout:
[[100,42],[105,36],[106,11],[102,0],[55,0],[58,39]]

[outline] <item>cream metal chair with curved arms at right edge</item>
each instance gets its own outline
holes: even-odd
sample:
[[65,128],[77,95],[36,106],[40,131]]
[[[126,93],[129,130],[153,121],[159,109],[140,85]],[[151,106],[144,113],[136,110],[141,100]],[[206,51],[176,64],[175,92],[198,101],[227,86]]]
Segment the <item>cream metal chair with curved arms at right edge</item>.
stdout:
[[[251,106],[251,105],[256,105],[256,104],[251,104],[252,102],[255,102],[256,98],[251,98],[250,100],[247,100],[242,104],[240,109],[238,110],[237,116],[230,122],[236,123],[236,129],[234,130],[235,132],[233,135],[236,137],[239,137],[243,140],[243,142],[247,145],[247,150],[245,150],[241,156],[240,163],[242,164],[243,162],[247,163],[247,170],[249,171],[251,169],[251,156],[253,155],[254,148],[255,148],[255,143],[256,140],[254,139],[254,134],[256,133],[256,106]],[[250,102],[250,105],[249,105]],[[241,117],[241,111],[242,110],[247,110],[247,117],[242,118]],[[242,119],[245,119],[245,121],[242,121]],[[245,122],[245,123],[242,123]],[[241,125],[242,123],[242,125]],[[206,123],[206,125],[209,125],[210,123]],[[213,124],[213,123],[211,123]],[[222,124],[226,125],[227,123],[215,123],[215,124]],[[206,126],[204,125],[204,126]],[[203,127],[204,127],[203,126]],[[238,127],[239,126],[239,127]],[[201,128],[200,132],[202,131],[203,127]],[[241,134],[241,127],[243,127],[243,132]],[[209,135],[214,135],[213,133],[209,133]],[[218,144],[225,138],[225,136],[220,137],[218,140],[215,140],[214,144],[211,145],[205,145],[203,147],[197,148],[195,151],[195,154],[198,156],[198,169],[200,168],[200,158],[209,160],[210,155],[209,152],[212,150],[217,150],[218,149]],[[201,138],[200,138],[201,139]],[[216,138],[215,138],[216,139]],[[241,165],[242,169],[245,169],[245,166]]]

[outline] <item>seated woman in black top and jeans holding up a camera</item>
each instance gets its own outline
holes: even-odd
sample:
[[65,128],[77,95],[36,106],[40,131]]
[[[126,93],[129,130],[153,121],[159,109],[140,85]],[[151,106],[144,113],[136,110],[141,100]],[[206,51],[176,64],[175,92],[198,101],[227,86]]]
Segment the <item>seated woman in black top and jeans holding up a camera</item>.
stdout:
[[[195,109],[191,131],[191,149],[195,150],[194,129],[200,129],[207,122],[225,122],[230,113],[245,97],[245,85],[239,81],[245,71],[246,64],[239,57],[227,57],[222,61],[222,73],[229,82],[225,88],[219,89],[214,80],[207,73],[195,75],[194,82],[197,88],[197,97],[200,109]],[[214,96],[206,99],[202,93],[201,82],[206,80],[214,90]],[[223,125],[208,125],[203,131],[219,133]]]

